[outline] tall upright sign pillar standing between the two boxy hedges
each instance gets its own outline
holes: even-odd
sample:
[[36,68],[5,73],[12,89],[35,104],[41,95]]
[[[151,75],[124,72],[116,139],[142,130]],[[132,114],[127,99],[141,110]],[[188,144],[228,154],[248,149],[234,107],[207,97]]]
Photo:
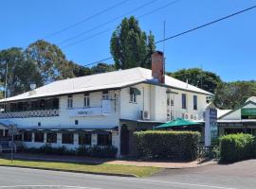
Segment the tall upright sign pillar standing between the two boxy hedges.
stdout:
[[218,137],[217,110],[207,108],[205,112],[205,146],[210,146],[211,142]]

